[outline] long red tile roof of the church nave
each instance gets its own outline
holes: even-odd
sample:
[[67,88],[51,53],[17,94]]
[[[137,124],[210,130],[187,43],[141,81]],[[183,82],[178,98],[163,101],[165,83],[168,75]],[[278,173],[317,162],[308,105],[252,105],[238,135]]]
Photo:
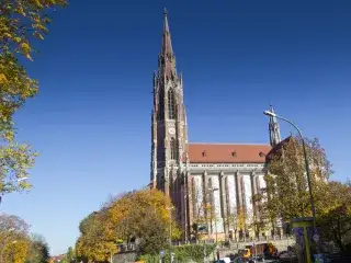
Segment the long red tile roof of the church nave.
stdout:
[[[264,163],[270,145],[189,144],[190,162]],[[262,155],[263,153],[263,155]]]

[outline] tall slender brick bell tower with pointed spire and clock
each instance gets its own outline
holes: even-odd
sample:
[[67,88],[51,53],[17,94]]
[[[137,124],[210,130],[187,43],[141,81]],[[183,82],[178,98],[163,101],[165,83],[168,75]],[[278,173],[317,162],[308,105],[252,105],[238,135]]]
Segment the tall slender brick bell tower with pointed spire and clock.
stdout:
[[151,114],[151,185],[178,203],[180,174],[188,144],[182,76],[177,73],[167,10],[163,12],[161,52],[154,73]]

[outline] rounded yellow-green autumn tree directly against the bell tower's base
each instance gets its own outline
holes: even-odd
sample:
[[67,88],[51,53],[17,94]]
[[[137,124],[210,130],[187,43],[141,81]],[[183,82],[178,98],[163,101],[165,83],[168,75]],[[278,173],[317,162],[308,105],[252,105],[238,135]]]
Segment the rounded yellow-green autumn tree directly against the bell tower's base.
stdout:
[[[126,242],[138,240],[140,253],[155,253],[167,244],[170,231],[172,239],[181,236],[173,211],[163,192],[144,190],[117,199],[110,208],[110,218],[117,237]],[[150,226],[152,221],[157,227]]]

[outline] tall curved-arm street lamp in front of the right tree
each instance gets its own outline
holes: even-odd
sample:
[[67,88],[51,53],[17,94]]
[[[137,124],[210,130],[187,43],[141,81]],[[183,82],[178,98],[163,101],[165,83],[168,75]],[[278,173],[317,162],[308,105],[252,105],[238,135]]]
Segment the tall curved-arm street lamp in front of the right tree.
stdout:
[[307,152],[306,152],[306,144],[305,144],[305,139],[303,137],[303,134],[302,132],[299,130],[299,128],[294,124],[292,123],[291,121],[284,118],[284,117],[281,117],[279,115],[276,115],[275,113],[273,112],[270,112],[270,111],[264,111],[263,112],[264,115],[267,116],[270,116],[270,117],[276,117],[276,118],[280,118],[288,124],[291,124],[298,133],[302,141],[303,141],[303,151],[304,151],[304,159],[305,159],[305,167],[306,167],[306,175],[307,175],[307,183],[308,183],[308,191],[309,191],[309,202],[310,202],[310,209],[312,209],[312,217],[313,217],[313,224],[314,224],[314,230],[315,230],[315,235],[317,235],[317,229],[316,229],[316,208],[315,208],[315,201],[314,201],[314,196],[312,194],[312,183],[310,183],[310,172],[309,172],[309,164],[308,164],[308,158],[307,158]]

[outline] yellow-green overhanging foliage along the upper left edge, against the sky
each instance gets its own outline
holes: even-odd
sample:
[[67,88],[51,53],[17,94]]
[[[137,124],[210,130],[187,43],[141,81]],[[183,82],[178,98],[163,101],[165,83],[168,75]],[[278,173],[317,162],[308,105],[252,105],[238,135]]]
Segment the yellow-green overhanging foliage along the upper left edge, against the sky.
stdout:
[[44,39],[50,22],[47,11],[66,0],[0,1],[0,193],[25,190],[31,185],[19,179],[27,176],[36,152],[14,139],[13,114],[38,90],[19,58],[32,60],[34,38]]

